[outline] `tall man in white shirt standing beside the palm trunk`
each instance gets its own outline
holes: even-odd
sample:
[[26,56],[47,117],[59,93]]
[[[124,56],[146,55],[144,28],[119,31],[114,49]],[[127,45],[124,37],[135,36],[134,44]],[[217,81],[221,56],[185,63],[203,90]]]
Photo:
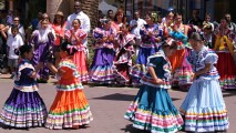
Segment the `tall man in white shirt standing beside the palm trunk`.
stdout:
[[[91,29],[90,18],[82,11],[81,1],[75,0],[74,1],[74,13],[70,14],[66,20],[66,27],[65,30],[71,30],[72,28],[72,21],[74,19],[79,19],[81,21],[81,29],[86,31],[89,34]],[[86,48],[88,39],[84,40],[83,44]],[[86,54],[89,55],[89,50],[86,50]]]

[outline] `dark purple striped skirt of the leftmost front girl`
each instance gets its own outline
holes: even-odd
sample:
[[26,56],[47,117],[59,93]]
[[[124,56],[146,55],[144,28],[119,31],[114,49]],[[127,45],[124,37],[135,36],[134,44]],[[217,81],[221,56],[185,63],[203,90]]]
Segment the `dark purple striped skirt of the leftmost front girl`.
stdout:
[[13,89],[0,114],[0,122],[14,127],[43,126],[47,108],[37,91]]

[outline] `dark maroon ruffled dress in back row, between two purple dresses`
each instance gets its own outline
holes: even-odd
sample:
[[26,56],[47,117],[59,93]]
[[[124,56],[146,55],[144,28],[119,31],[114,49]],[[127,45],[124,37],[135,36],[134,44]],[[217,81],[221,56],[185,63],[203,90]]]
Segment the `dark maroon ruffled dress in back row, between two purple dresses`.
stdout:
[[115,81],[119,84],[131,84],[130,69],[132,66],[132,57],[134,54],[134,41],[133,34],[120,34],[117,37],[116,55],[113,61],[113,72]]

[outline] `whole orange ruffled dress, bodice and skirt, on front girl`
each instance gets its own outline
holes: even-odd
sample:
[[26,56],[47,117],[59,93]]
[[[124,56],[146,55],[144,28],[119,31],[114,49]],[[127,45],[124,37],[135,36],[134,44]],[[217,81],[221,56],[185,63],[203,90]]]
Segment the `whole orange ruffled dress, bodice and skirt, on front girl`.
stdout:
[[45,127],[63,129],[89,124],[93,117],[76,65],[70,59],[62,59],[59,69],[65,73],[58,81],[58,93],[49,111]]

